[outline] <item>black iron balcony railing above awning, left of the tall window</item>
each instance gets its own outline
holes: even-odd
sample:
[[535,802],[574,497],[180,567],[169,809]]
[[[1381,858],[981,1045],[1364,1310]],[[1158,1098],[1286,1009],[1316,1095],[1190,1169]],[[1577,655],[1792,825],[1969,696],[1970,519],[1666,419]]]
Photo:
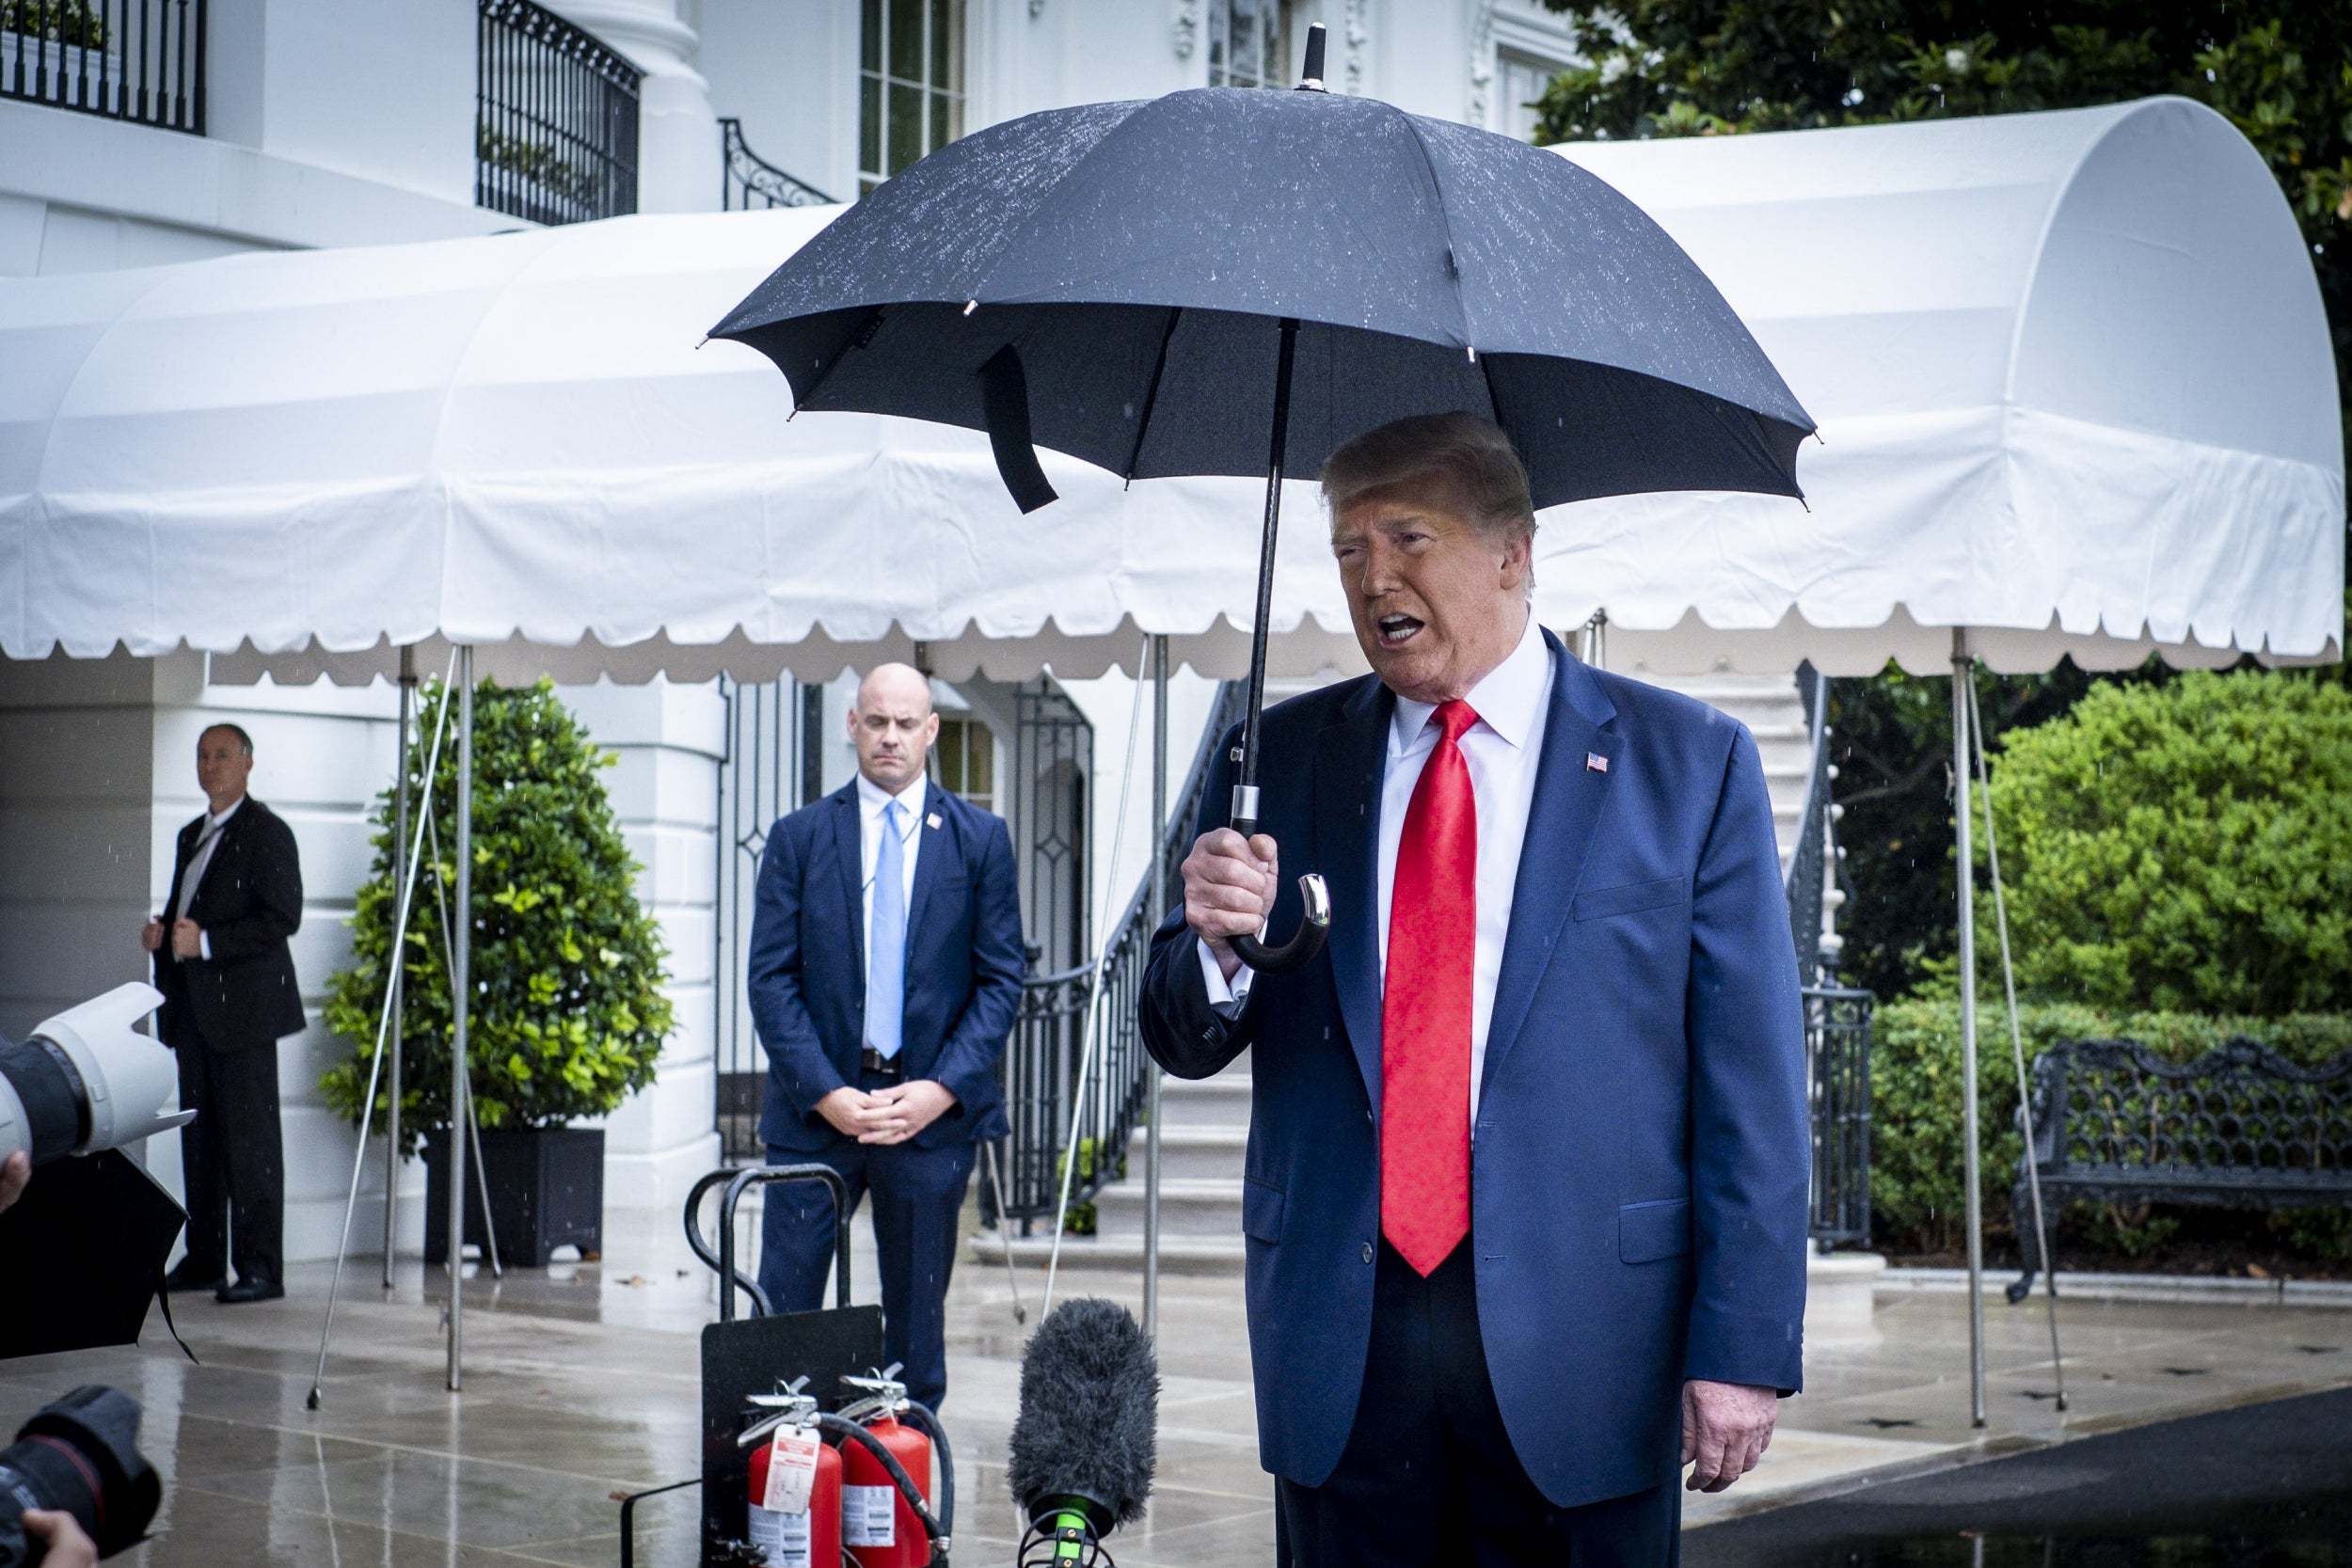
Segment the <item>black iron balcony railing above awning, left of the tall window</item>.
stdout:
[[532,223],[637,212],[644,73],[532,0],[480,0],[475,207]]

